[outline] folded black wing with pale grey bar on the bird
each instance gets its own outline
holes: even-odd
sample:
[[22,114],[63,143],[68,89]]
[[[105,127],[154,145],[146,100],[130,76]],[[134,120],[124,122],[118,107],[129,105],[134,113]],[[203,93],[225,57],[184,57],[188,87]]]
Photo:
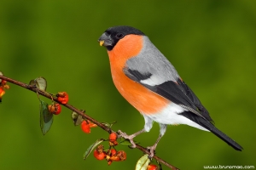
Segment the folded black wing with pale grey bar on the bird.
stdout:
[[[123,69],[127,77],[131,78],[131,80],[135,82],[142,84],[145,88],[148,88],[154,93],[169,99],[177,105],[180,105],[187,111],[191,111],[195,113],[195,115],[201,116],[202,118],[207,119],[207,121],[212,122],[212,118],[209,116],[208,111],[203,105],[201,105],[200,100],[195,96],[195,94],[186,85],[186,83],[183,82],[180,77],[178,77],[178,75],[172,75],[173,71],[170,71],[169,73],[166,72],[166,74],[171,74],[172,80],[167,79],[164,81],[164,79],[168,78],[170,75],[160,75],[160,68],[155,68],[148,64],[148,62],[140,62],[139,60],[137,61],[140,63],[140,67],[137,67],[138,69],[135,69],[134,66],[132,66],[133,68],[129,67],[131,63],[128,63]],[[135,62],[135,60],[130,60],[129,62]],[[168,64],[169,62],[165,68],[167,70]],[[142,68],[144,69],[142,70]],[[145,68],[148,69],[145,70]],[[174,73],[177,74],[176,71]],[[173,79],[177,80],[173,81]]]

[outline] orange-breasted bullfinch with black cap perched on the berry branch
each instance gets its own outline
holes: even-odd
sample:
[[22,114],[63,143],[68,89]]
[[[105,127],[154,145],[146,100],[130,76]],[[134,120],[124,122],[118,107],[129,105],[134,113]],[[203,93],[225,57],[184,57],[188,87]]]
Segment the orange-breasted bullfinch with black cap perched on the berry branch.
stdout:
[[185,124],[212,132],[235,150],[243,149],[215,127],[207,109],[143,31],[131,26],[113,26],[103,32],[98,42],[107,48],[113,84],[145,121],[137,133],[118,131],[120,137],[130,140],[131,147],[136,147],[133,139],[137,135],[149,132],[153,122],[157,122],[160,135],[148,147],[149,157],[154,156],[167,125]]

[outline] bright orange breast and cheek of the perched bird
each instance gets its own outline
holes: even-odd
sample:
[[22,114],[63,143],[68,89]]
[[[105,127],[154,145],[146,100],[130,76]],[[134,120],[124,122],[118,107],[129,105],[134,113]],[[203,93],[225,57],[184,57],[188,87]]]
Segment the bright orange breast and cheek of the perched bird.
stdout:
[[108,51],[111,73],[115,87],[131,105],[143,114],[154,114],[170,101],[132,81],[123,71],[127,59],[139,54],[142,48],[142,36],[128,35],[119,40],[113,50]]

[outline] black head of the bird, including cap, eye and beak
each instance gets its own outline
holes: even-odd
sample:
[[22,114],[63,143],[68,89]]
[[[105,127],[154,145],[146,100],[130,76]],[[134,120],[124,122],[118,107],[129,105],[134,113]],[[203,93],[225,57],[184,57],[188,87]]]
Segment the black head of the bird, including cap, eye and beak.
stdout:
[[105,46],[108,51],[110,51],[120,39],[129,34],[145,35],[142,31],[131,26],[113,26],[108,28],[108,30],[102,34],[98,39],[98,42],[100,42],[101,46]]

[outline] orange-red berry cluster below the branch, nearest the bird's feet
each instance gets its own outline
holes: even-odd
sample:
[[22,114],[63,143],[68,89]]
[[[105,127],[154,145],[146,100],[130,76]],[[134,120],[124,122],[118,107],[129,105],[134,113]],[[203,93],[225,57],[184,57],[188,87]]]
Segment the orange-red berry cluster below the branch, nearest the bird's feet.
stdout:
[[118,142],[116,133],[109,134],[108,140],[109,140],[109,149],[104,150],[104,146],[98,145],[96,147],[96,150],[94,150],[93,155],[96,157],[97,160],[103,160],[106,159],[108,161],[108,165],[111,165],[113,161],[125,161],[126,160],[126,153],[124,150],[115,150],[113,148],[114,145],[117,145]]

